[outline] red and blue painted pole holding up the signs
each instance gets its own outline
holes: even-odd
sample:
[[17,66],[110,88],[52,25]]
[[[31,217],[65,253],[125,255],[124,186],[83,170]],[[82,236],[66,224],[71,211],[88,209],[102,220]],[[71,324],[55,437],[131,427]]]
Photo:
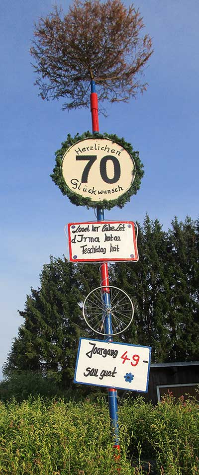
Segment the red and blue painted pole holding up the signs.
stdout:
[[[98,94],[96,93],[96,83],[91,80],[91,116],[92,116],[92,127],[93,134],[99,132],[99,120],[98,120]],[[104,220],[103,209],[97,207],[97,219],[98,221]],[[107,262],[102,262],[100,265],[100,275],[101,275],[101,285],[105,286],[102,298],[105,302],[106,307],[109,307],[110,298],[109,298],[109,281],[108,281],[108,264]],[[107,287],[106,287],[107,286]],[[104,332],[108,336],[107,341],[112,341],[112,326],[111,326],[111,315],[108,314],[105,317],[104,321]],[[119,450],[119,426],[118,426],[118,411],[117,411],[117,391],[113,388],[108,388],[108,404],[109,404],[109,415],[110,415],[110,424],[111,430],[114,438],[114,448]]]

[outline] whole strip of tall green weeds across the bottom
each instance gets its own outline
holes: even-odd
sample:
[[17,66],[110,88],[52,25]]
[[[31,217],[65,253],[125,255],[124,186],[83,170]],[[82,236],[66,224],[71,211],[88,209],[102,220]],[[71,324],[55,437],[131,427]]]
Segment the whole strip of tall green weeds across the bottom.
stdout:
[[0,475],[199,475],[194,399],[175,403],[168,396],[155,407],[126,400],[119,425],[118,461],[104,400],[1,402]]

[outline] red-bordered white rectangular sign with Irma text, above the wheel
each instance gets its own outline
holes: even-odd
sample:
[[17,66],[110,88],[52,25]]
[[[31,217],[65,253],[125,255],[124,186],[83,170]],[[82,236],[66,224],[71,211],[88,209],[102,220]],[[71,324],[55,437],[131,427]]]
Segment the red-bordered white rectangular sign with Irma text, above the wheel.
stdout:
[[137,225],[132,221],[69,223],[68,237],[71,262],[139,259]]

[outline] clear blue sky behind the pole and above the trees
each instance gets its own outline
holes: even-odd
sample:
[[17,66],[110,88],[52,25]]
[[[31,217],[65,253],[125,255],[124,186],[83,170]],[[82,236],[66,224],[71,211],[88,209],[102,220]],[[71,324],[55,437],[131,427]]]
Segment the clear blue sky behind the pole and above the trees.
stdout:
[[[50,254],[66,255],[64,226],[95,219],[93,210],[72,205],[49,177],[67,134],[92,129],[89,109],[62,112],[62,102],[42,101],[33,85],[33,25],[52,4],[1,2],[0,366],[23,321],[17,309],[24,309],[30,287],[39,285],[43,264]],[[62,2],[66,11],[68,5]],[[142,223],[147,212],[167,230],[175,215],[199,216],[199,2],[136,0],[134,6],[153,38],[145,70],[149,86],[129,104],[108,105],[100,132],[123,136],[139,150],[145,176],[130,203],[106,211],[105,218]]]

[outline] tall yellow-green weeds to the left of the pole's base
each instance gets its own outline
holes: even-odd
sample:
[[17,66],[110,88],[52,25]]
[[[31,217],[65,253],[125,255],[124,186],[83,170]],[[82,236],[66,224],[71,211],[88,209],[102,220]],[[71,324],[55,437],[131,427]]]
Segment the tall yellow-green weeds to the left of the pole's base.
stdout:
[[[105,403],[1,403],[0,434],[2,475],[115,474]],[[121,464],[130,474],[130,463]]]

